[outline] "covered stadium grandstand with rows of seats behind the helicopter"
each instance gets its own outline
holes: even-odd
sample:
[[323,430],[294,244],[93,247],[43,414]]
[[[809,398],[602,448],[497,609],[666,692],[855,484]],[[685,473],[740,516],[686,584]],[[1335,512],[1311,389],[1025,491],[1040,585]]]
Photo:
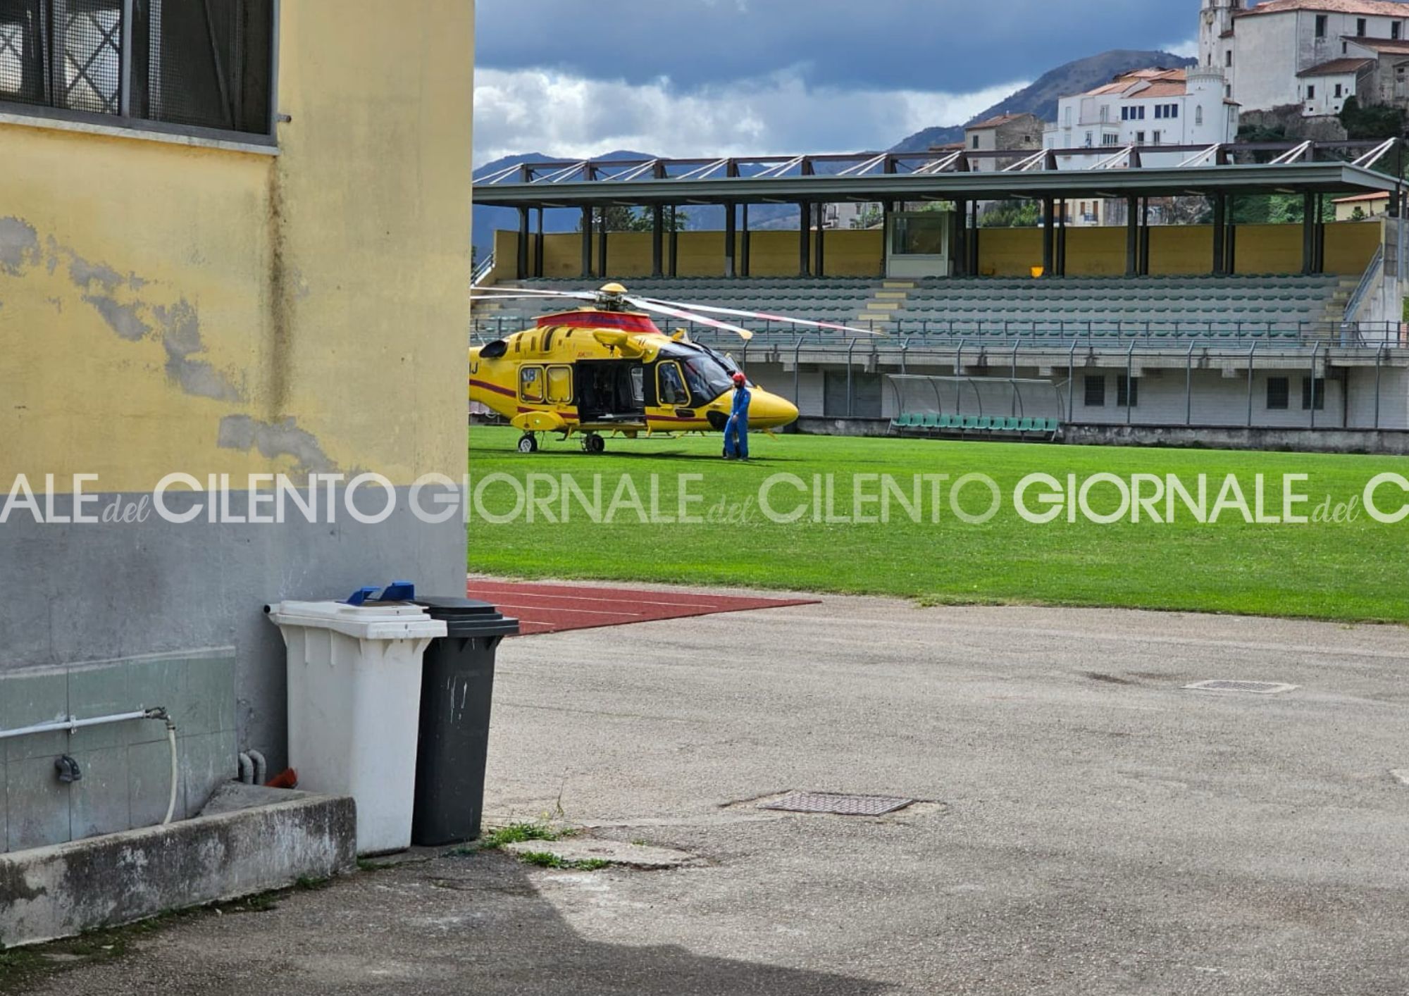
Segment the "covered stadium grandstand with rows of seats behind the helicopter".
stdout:
[[[1140,148],[524,163],[476,178],[476,203],[520,218],[519,231],[496,232],[476,282],[582,290],[612,279],[650,297],[875,332],[745,323],[755,337],[741,342],[690,330],[824,431],[974,434],[1023,421],[917,411],[924,392],[902,390],[902,376],[1047,382],[1057,400],[1043,420],[1120,427],[1122,438],[1409,430],[1401,142],[1161,147],[1161,162],[1169,152],[1178,165],[1146,165]],[[998,162],[979,169],[985,158]],[[1388,217],[1327,220],[1334,199],[1370,193],[1388,196]],[[1301,221],[1234,224],[1240,204],[1270,196],[1298,204]],[[1069,206],[1098,197],[1124,224],[1068,227]],[[1202,224],[1168,223],[1172,204],[1196,199]],[[979,206],[1000,200],[1036,203],[1038,224],[979,227]],[[879,224],[819,225],[831,203],[878,204]],[[759,204],[774,216],[792,204],[796,227],[751,231]],[[614,206],[654,223],[606,231]],[[723,230],[679,231],[671,214],[686,206],[723,207]],[[581,211],[579,231],[545,234],[552,208]],[[497,338],[552,310],[476,307],[473,332]],[[934,394],[933,409],[998,396]]]

